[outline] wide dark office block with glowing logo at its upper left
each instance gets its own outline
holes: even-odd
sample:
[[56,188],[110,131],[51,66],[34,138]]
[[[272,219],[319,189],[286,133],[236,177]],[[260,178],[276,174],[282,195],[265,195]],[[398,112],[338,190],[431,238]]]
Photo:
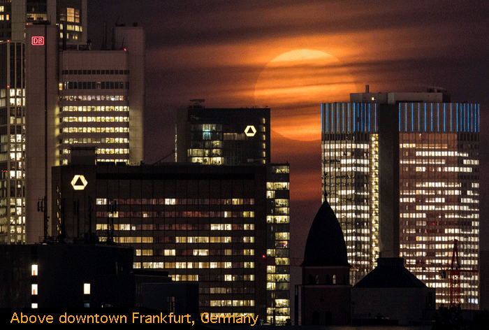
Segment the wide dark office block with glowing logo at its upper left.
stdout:
[[[175,163],[56,166],[50,215],[60,230],[52,227],[52,236],[76,240],[92,232],[102,241],[130,245],[136,252],[134,268],[163,269],[175,281],[198,282],[200,313],[265,319],[267,285],[288,282],[279,266],[267,273],[270,259],[288,264],[288,258],[267,252],[289,246],[288,233],[276,230],[268,236],[265,230],[275,225],[267,223],[265,195],[282,191],[278,185],[268,189],[267,169]],[[283,173],[277,174],[283,180]],[[267,280],[268,275],[273,278]],[[282,313],[281,298],[275,301],[276,315]]]

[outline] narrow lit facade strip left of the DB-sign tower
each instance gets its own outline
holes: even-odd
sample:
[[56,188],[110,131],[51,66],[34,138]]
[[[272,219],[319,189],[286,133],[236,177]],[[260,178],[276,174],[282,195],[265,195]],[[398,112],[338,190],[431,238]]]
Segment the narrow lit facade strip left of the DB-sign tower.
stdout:
[[24,44],[0,43],[0,243],[25,243]]

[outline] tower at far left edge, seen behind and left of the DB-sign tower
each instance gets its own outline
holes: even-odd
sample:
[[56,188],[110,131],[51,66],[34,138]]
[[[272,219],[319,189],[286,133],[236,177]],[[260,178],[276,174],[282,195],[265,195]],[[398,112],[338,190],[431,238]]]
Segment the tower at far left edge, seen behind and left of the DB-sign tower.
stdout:
[[66,43],[85,42],[86,13],[86,0],[0,1],[0,243],[26,243],[25,28],[55,20]]

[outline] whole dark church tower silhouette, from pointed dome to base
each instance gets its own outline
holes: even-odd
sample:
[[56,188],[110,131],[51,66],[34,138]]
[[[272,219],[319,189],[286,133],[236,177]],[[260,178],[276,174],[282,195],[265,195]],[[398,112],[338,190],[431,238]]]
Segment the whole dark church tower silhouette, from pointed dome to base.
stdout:
[[350,264],[340,223],[325,199],[312,222],[302,263],[302,325],[350,323]]

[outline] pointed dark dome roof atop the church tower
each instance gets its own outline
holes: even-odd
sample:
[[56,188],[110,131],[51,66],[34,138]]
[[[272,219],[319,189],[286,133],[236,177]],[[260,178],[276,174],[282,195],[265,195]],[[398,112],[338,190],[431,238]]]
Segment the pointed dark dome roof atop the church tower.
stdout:
[[340,222],[326,196],[309,229],[302,266],[350,267]]

